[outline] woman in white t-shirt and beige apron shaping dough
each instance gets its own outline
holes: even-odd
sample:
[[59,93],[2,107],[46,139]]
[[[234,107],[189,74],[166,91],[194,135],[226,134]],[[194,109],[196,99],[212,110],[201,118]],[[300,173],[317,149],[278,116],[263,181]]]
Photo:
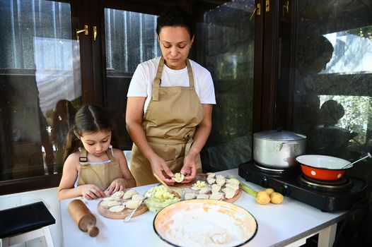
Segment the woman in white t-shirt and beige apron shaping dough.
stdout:
[[190,15],[170,7],[158,17],[156,32],[163,56],[139,64],[127,95],[137,186],[156,183],[153,173],[171,185],[174,172],[184,174],[182,182],[188,183],[202,171],[199,152],[216,104],[211,74],[187,59],[194,42]]

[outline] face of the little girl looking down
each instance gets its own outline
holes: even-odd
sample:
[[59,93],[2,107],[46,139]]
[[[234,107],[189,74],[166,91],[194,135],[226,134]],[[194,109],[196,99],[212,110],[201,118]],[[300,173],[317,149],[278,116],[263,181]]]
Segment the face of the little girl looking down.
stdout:
[[111,142],[111,131],[84,132],[80,137],[81,143],[91,155],[104,155]]

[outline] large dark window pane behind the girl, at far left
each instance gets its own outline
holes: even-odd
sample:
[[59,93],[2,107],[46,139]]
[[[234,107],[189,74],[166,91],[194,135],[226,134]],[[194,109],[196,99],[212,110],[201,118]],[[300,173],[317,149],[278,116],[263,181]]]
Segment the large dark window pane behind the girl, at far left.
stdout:
[[81,103],[70,5],[2,1],[0,16],[0,181],[60,173]]

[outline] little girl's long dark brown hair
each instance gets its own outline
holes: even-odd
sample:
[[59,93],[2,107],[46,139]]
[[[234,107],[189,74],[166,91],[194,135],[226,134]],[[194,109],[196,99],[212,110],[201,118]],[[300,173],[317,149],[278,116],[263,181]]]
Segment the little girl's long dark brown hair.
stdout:
[[75,123],[67,135],[64,148],[64,161],[71,153],[81,147],[81,140],[76,135],[82,136],[85,132],[112,131],[112,122],[102,107],[84,105],[75,114]]

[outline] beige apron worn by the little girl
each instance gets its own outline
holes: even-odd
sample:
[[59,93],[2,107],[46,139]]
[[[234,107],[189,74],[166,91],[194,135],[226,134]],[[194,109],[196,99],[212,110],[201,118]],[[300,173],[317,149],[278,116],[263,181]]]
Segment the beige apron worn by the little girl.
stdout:
[[112,181],[122,178],[122,170],[112,156],[112,153],[110,150],[107,150],[106,153],[110,162],[91,164],[88,162],[88,153],[85,148],[81,148],[80,170],[77,186],[83,184],[94,184],[105,191]]

